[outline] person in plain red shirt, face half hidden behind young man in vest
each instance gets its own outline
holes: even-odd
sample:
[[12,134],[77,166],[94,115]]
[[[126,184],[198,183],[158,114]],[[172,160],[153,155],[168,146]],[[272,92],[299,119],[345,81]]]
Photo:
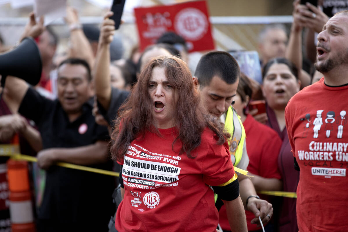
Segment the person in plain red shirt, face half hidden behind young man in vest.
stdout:
[[[248,171],[256,191],[280,191],[282,181],[278,170],[278,153],[282,141],[278,134],[271,128],[256,121],[251,114],[246,113],[247,105],[252,96],[251,83],[242,73],[239,79],[237,94],[234,97],[234,109],[240,116],[246,134],[246,149],[249,157]],[[261,198],[270,202],[271,199]],[[248,231],[261,231],[260,227],[251,224],[255,217],[250,211],[245,211]],[[230,231],[224,206],[219,211],[219,223],[224,231]],[[265,225],[266,231],[272,230],[272,223]]]

